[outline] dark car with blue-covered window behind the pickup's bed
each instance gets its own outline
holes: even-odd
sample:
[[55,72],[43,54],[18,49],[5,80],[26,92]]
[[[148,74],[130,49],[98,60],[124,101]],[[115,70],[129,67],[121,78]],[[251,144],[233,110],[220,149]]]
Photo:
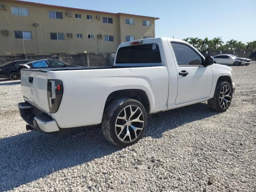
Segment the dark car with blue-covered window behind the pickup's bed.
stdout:
[[34,68],[62,68],[62,67],[81,67],[78,65],[70,65],[58,59],[41,59],[32,61],[26,64],[20,64],[18,66],[18,72],[20,74],[21,69],[34,69]]

